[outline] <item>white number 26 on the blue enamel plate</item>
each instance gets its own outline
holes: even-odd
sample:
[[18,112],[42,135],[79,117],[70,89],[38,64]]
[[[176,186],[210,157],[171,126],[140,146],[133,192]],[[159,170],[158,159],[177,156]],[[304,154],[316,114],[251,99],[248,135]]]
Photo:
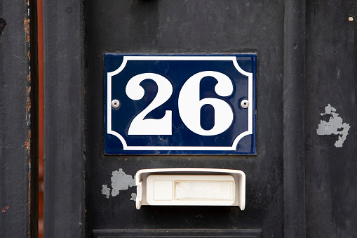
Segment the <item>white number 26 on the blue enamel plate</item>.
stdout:
[[[198,135],[218,135],[226,131],[233,122],[233,111],[230,105],[219,98],[199,99],[201,79],[214,77],[217,79],[215,93],[227,97],[233,93],[233,84],[227,75],[215,71],[204,71],[194,74],[182,86],[178,96],[178,110],[184,124]],[[161,119],[144,119],[155,108],[163,105],[173,93],[170,81],[159,74],[138,74],[131,78],[126,85],[126,94],[132,100],[144,97],[144,88],[140,83],[152,79],[158,86],[158,92],[152,102],[142,112],[137,114],[129,126],[128,135],[172,135],[172,111],[166,110]],[[201,127],[201,107],[212,105],[215,110],[215,125],[210,130]]]

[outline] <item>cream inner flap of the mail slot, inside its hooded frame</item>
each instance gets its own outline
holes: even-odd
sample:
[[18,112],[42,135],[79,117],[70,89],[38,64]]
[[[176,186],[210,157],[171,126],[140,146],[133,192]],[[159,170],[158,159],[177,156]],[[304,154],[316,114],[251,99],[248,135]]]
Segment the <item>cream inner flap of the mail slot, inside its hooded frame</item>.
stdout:
[[233,205],[235,183],[229,175],[150,175],[149,205]]

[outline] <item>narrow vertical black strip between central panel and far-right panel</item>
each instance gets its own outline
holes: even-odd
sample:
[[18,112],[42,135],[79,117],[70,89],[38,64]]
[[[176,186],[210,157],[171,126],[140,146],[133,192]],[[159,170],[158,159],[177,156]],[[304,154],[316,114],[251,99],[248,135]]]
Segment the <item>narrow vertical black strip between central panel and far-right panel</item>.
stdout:
[[305,237],[305,1],[286,0],[284,15],[284,237]]

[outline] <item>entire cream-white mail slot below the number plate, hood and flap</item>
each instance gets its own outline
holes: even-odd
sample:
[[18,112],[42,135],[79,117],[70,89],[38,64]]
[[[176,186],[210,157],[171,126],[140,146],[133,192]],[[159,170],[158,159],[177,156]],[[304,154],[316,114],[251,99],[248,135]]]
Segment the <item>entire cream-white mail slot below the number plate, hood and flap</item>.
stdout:
[[157,168],[137,171],[137,209],[156,206],[245,206],[243,171]]

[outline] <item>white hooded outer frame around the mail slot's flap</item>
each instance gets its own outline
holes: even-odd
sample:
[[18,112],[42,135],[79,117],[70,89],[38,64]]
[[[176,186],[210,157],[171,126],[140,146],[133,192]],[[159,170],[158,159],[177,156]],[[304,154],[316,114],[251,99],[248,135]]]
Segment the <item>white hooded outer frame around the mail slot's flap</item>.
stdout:
[[[140,209],[142,205],[150,205],[147,202],[147,177],[152,174],[162,175],[230,175],[234,178],[236,186],[234,194],[234,202],[231,205],[227,204],[184,204],[183,206],[239,206],[241,210],[245,209],[245,173],[240,170],[220,169],[220,168],[152,168],[142,169],[137,171],[135,175],[135,185],[137,186],[136,209]],[[154,206],[166,206],[177,204],[154,204]],[[182,204],[180,204],[182,205]]]

